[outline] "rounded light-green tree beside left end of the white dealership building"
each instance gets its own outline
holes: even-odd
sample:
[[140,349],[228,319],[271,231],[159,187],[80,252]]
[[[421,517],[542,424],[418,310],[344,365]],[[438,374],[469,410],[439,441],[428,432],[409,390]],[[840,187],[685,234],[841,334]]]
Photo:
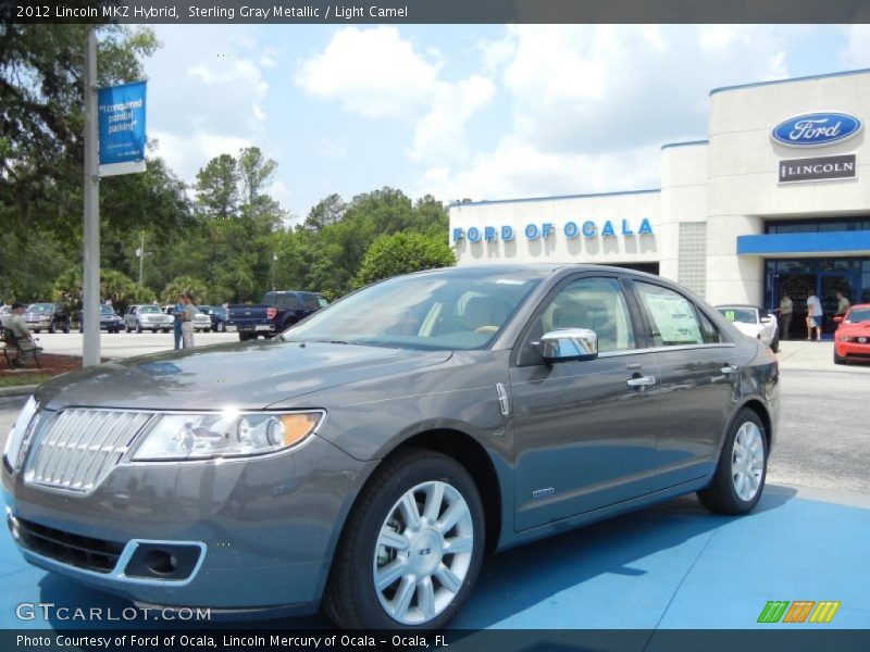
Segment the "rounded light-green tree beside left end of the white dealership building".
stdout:
[[456,256],[445,238],[414,233],[384,235],[365,252],[353,284],[361,287],[398,274],[453,264]]

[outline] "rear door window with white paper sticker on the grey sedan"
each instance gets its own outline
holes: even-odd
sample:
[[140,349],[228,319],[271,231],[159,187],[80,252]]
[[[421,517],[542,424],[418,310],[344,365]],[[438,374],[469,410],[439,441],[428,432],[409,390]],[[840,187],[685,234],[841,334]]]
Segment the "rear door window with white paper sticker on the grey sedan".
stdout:
[[648,283],[635,281],[634,287],[646,309],[654,347],[704,343],[697,313],[688,299]]

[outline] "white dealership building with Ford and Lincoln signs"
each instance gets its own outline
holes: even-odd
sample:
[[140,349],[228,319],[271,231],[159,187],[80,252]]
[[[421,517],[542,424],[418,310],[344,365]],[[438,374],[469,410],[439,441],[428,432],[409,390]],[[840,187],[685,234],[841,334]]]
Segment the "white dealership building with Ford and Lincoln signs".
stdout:
[[870,70],[709,101],[706,140],[661,148],[658,189],[451,205],[459,264],[625,266],[714,304],[775,308],[787,292],[798,314],[812,290],[830,331],[836,290],[870,301]]

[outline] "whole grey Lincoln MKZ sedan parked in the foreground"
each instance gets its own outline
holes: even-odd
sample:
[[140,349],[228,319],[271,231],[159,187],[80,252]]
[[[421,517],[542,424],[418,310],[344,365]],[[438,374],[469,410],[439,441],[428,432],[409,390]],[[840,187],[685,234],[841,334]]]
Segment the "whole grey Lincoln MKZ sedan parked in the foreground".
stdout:
[[448,267],[51,379],[2,484],[28,562],[135,602],[431,629],[485,552],[692,491],[749,512],[778,413],[770,349],[676,284]]

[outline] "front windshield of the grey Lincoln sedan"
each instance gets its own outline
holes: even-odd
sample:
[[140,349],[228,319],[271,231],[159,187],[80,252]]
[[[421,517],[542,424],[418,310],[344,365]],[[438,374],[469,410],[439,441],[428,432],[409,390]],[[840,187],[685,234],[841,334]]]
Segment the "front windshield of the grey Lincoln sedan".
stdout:
[[408,349],[482,349],[540,281],[534,271],[457,268],[364,288],[285,331],[290,341]]

